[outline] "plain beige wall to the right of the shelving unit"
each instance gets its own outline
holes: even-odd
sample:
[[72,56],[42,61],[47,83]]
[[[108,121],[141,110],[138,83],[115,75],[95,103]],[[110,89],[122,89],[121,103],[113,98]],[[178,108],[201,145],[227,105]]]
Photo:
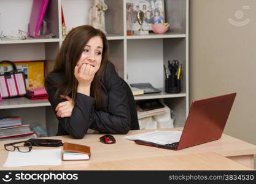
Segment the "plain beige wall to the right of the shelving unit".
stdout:
[[[256,144],[255,9],[254,0],[190,1],[190,102],[238,93],[225,134],[252,144]],[[230,23],[229,18],[244,25]]]

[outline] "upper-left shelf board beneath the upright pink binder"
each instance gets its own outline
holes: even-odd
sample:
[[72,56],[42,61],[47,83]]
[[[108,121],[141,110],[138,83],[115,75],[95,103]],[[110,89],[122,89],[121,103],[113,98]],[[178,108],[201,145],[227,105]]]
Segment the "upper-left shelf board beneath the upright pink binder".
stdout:
[[47,43],[47,42],[60,42],[60,39],[54,38],[54,39],[34,39],[29,37],[26,40],[20,40],[20,39],[9,39],[9,38],[2,38],[0,40],[0,45],[1,44],[33,44],[33,43]]

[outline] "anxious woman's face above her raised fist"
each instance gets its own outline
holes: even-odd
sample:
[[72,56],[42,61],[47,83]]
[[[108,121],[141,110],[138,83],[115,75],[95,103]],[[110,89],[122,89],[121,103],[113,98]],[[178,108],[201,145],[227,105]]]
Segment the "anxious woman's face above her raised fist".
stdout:
[[101,60],[103,56],[103,40],[99,36],[92,37],[85,48],[83,48],[82,55],[77,63],[90,64],[95,67],[96,71],[101,66]]

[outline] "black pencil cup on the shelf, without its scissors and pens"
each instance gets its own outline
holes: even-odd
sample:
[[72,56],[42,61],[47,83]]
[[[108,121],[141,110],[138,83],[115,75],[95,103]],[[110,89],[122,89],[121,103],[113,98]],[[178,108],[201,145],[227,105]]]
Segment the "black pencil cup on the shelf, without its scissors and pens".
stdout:
[[180,93],[180,79],[178,80],[176,75],[169,75],[168,79],[165,79],[165,92]]

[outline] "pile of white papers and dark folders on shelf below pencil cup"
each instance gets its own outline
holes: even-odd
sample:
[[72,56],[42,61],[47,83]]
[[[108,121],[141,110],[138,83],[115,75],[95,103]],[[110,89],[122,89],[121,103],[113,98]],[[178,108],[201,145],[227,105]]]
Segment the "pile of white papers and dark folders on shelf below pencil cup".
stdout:
[[136,102],[140,129],[173,128],[171,109],[158,99]]

